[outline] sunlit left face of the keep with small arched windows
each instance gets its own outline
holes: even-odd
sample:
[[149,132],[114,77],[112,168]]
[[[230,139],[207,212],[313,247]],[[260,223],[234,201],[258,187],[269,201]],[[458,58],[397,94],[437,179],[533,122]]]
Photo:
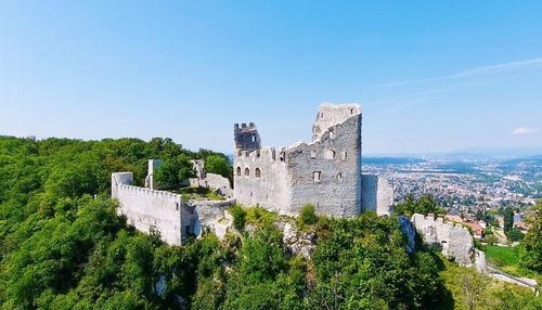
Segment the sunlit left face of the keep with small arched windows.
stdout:
[[263,147],[235,152],[233,180],[237,203],[284,212],[292,201],[284,150],[276,152],[273,147]]

